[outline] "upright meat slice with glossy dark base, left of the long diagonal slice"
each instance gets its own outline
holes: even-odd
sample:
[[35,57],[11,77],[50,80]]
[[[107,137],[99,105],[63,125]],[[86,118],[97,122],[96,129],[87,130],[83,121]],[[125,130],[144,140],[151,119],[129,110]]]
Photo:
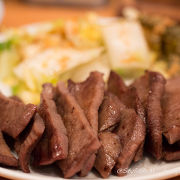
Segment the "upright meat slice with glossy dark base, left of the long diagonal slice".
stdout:
[[51,84],[43,85],[40,116],[45,121],[44,135],[35,148],[34,164],[47,165],[65,159],[68,153],[68,138],[61,116],[57,113],[54,88]]

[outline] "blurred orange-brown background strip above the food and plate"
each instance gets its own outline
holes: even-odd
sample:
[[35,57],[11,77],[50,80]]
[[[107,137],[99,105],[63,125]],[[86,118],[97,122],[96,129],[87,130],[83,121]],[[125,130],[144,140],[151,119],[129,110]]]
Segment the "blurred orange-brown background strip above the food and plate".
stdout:
[[20,26],[59,17],[78,18],[86,12],[119,16],[124,6],[180,20],[179,0],[0,0],[0,22],[1,26],[6,27]]

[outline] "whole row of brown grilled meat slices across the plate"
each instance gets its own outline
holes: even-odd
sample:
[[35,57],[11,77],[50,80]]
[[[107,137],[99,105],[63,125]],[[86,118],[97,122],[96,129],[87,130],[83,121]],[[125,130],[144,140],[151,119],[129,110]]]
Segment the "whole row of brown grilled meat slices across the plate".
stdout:
[[151,71],[129,86],[115,72],[107,86],[99,72],[67,86],[46,83],[38,107],[0,94],[0,164],[28,173],[32,158],[32,166],[56,164],[65,178],[93,167],[107,178],[124,176],[144,151],[180,160],[178,98],[180,77],[166,82]]

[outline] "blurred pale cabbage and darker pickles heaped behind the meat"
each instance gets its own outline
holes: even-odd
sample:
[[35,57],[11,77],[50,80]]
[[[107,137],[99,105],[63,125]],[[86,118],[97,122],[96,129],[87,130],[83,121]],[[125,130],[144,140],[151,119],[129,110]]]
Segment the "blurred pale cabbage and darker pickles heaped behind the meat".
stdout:
[[[137,18],[56,20],[1,29],[0,88],[38,104],[42,84],[71,78],[83,81],[91,71],[113,69],[134,79],[149,69],[171,77],[180,72],[179,24],[137,14]],[[2,89],[2,88],[1,88]]]

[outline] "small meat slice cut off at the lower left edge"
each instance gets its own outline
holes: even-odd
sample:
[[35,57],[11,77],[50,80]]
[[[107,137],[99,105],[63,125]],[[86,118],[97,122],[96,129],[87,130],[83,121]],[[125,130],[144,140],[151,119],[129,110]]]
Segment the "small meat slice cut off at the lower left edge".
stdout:
[[6,144],[2,132],[0,132],[0,164],[6,166],[18,166],[18,160],[12,155],[10,148]]

